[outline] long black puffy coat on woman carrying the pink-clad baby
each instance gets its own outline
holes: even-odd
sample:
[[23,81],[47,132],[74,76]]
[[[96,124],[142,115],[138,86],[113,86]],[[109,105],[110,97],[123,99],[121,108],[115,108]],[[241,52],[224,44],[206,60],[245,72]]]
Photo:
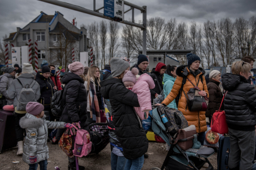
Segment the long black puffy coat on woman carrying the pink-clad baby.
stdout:
[[139,107],[137,94],[126,89],[121,79],[107,79],[100,85],[103,98],[110,100],[115,132],[124,150],[124,157],[137,159],[143,156],[148,150],[148,139],[133,108]]

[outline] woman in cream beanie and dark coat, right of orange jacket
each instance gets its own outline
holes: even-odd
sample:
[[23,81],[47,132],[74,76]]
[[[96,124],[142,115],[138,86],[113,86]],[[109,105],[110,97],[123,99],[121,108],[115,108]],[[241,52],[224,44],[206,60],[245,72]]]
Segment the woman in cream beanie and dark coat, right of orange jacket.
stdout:
[[[221,88],[219,88],[219,84],[221,80],[221,72],[219,71],[211,71],[209,74],[209,83],[207,84],[207,89],[209,92],[209,104],[206,111],[206,117],[209,118],[209,123],[211,123],[211,118],[216,110],[219,110],[221,106],[221,101],[223,99],[223,94],[221,93]],[[223,110],[223,105],[221,106],[221,110]]]

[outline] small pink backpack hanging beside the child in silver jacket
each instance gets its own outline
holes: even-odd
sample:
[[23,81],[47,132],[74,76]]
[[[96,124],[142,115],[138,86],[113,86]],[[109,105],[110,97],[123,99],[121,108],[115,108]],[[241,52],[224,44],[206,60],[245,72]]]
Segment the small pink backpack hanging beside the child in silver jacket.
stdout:
[[74,156],[83,157],[87,156],[91,152],[91,141],[90,141],[90,133],[87,130],[81,129],[79,123],[78,128],[73,125],[74,128],[76,128],[76,140],[74,141],[74,150],[73,154]]

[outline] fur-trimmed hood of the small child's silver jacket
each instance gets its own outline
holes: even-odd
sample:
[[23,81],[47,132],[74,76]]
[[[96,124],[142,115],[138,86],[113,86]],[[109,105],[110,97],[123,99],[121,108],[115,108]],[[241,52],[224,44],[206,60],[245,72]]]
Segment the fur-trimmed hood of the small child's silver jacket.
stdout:
[[38,128],[44,124],[45,115],[43,118],[37,118],[36,116],[31,115],[30,113],[26,113],[20,119],[20,127],[21,128]]

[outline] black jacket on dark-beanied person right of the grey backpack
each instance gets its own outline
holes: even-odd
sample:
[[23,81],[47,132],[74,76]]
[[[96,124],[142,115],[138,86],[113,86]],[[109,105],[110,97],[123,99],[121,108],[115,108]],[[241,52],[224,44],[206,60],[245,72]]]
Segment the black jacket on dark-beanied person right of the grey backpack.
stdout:
[[[37,72],[35,81],[37,81],[40,85],[41,98],[38,100],[38,102],[44,105],[45,110],[50,110],[50,102],[52,101],[52,96],[54,95],[54,82],[52,82],[50,77],[46,79],[41,72]],[[44,98],[44,101],[42,98]]]

